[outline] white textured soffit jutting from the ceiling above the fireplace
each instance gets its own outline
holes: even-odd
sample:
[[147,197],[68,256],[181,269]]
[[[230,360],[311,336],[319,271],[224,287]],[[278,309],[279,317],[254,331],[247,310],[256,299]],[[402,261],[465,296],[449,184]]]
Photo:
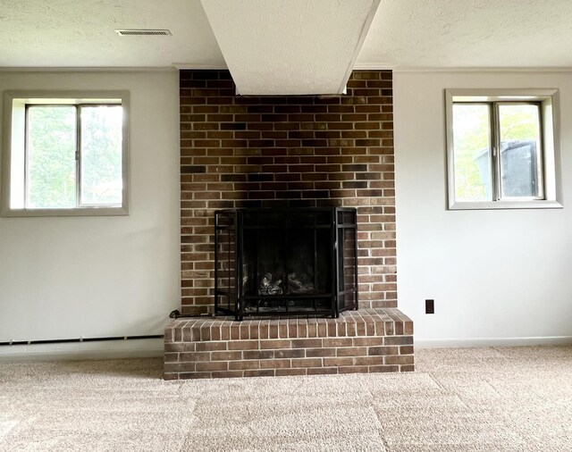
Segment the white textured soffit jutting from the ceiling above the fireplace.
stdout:
[[333,95],[380,0],[202,0],[240,95]]

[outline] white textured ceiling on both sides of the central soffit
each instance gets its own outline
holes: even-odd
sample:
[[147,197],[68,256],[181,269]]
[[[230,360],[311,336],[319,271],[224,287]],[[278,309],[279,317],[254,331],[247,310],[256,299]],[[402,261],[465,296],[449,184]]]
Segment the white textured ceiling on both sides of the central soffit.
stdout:
[[[172,37],[122,38],[114,33],[142,28],[170,29]],[[264,39],[272,32],[261,29],[257,35]],[[288,32],[306,37],[311,46],[316,30]],[[315,63],[329,50],[315,54]],[[274,54],[273,59],[279,62],[281,56]],[[173,63],[225,65],[199,0],[0,0],[0,68]],[[357,63],[572,67],[572,0],[382,0]],[[280,63],[273,64],[273,71],[280,69]]]

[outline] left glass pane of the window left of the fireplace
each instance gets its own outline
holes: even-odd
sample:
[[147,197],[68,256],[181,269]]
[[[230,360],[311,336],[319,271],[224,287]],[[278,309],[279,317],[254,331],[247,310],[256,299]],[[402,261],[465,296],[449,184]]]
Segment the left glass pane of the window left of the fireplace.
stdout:
[[76,116],[73,106],[28,109],[27,207],[75,207]]

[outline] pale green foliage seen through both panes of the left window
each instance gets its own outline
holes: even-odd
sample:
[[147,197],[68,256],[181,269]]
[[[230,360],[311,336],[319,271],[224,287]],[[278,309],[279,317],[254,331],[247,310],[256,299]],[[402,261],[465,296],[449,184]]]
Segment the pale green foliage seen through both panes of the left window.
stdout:
[[33,105],[28,130],[29,208],[122,204],[121,105]]

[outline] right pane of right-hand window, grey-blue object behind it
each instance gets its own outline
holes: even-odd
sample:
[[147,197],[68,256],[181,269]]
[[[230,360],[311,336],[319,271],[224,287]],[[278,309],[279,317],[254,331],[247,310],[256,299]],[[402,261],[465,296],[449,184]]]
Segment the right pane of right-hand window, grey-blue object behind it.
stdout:
[[499,105],[501,196],[541,197],[538,105]]

